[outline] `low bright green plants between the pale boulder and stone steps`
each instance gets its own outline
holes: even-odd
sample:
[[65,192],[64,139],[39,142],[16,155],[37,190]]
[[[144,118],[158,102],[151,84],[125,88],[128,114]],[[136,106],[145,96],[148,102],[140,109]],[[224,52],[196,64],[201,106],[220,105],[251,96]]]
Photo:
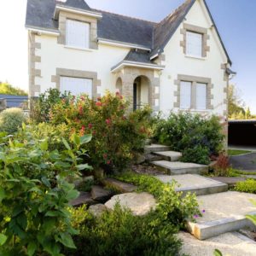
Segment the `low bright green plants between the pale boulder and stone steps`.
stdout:
[[166,184],[149,175],[124,172],[115,178],[126,183],[132,183],[138,187],[138,191],[147,191],[159,201],[157,211],[169,224],[180,228],[184,227],[186,220],[193,219],[195,215],[201,215],[195,195],[176,192],[177,183]]

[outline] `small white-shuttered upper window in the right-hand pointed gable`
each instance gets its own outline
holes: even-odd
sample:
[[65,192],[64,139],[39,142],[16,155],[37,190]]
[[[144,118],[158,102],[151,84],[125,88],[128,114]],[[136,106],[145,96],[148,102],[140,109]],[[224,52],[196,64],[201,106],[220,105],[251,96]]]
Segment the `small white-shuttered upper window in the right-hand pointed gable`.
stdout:
[[186,32],[186,54],[196,57],[202,56],[202,34]]

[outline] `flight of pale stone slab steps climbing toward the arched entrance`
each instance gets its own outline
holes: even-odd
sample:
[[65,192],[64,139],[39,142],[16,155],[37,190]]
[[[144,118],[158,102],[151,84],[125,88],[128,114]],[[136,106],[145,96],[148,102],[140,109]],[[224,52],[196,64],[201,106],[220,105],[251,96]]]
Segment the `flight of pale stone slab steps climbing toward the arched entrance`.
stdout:
[[207,174],[208,166],[178,161],[182,154],[166,146],[153,144],[146,146],[145,152],[162,157],[162,160],[151,162],[164,172],[158,176],[162,182],[171,183],[176,180],[180,184],[177,191],[182,191],[184,195],[191,192],[197,196],[202,217],[196,216],[195,222],[187,223],[189,232],[197,239],[206,240],[253,227],[246,215],[256,214],[256,207],[252,203],[252,200],[256,201],[256,195],[228,191],[226,183],[202,177],[201,174]]

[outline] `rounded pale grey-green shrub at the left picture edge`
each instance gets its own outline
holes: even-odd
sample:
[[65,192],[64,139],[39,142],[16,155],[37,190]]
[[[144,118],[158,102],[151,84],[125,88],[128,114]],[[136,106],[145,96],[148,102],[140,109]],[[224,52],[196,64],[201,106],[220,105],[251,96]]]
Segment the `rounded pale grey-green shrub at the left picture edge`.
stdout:
[[26,116],[20,108],[8,108],[0,113],[0,131],[13,134],[23,122],[26,122]]

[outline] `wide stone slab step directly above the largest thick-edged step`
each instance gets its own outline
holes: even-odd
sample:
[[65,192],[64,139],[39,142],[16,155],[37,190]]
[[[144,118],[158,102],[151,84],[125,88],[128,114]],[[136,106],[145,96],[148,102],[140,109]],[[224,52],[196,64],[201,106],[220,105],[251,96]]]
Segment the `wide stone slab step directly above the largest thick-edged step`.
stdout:
[[177,182],[176,191],[183,192],[183,195],[187,193],[195,193],[195,195],[210,195],[215,193],[221,193],[228,191],[229,186],[225,183],[221,183],[212,180],[208,177],[202,177],[197,174],[183,174],[183,175],[158,175],[156,176],[163,183]]

